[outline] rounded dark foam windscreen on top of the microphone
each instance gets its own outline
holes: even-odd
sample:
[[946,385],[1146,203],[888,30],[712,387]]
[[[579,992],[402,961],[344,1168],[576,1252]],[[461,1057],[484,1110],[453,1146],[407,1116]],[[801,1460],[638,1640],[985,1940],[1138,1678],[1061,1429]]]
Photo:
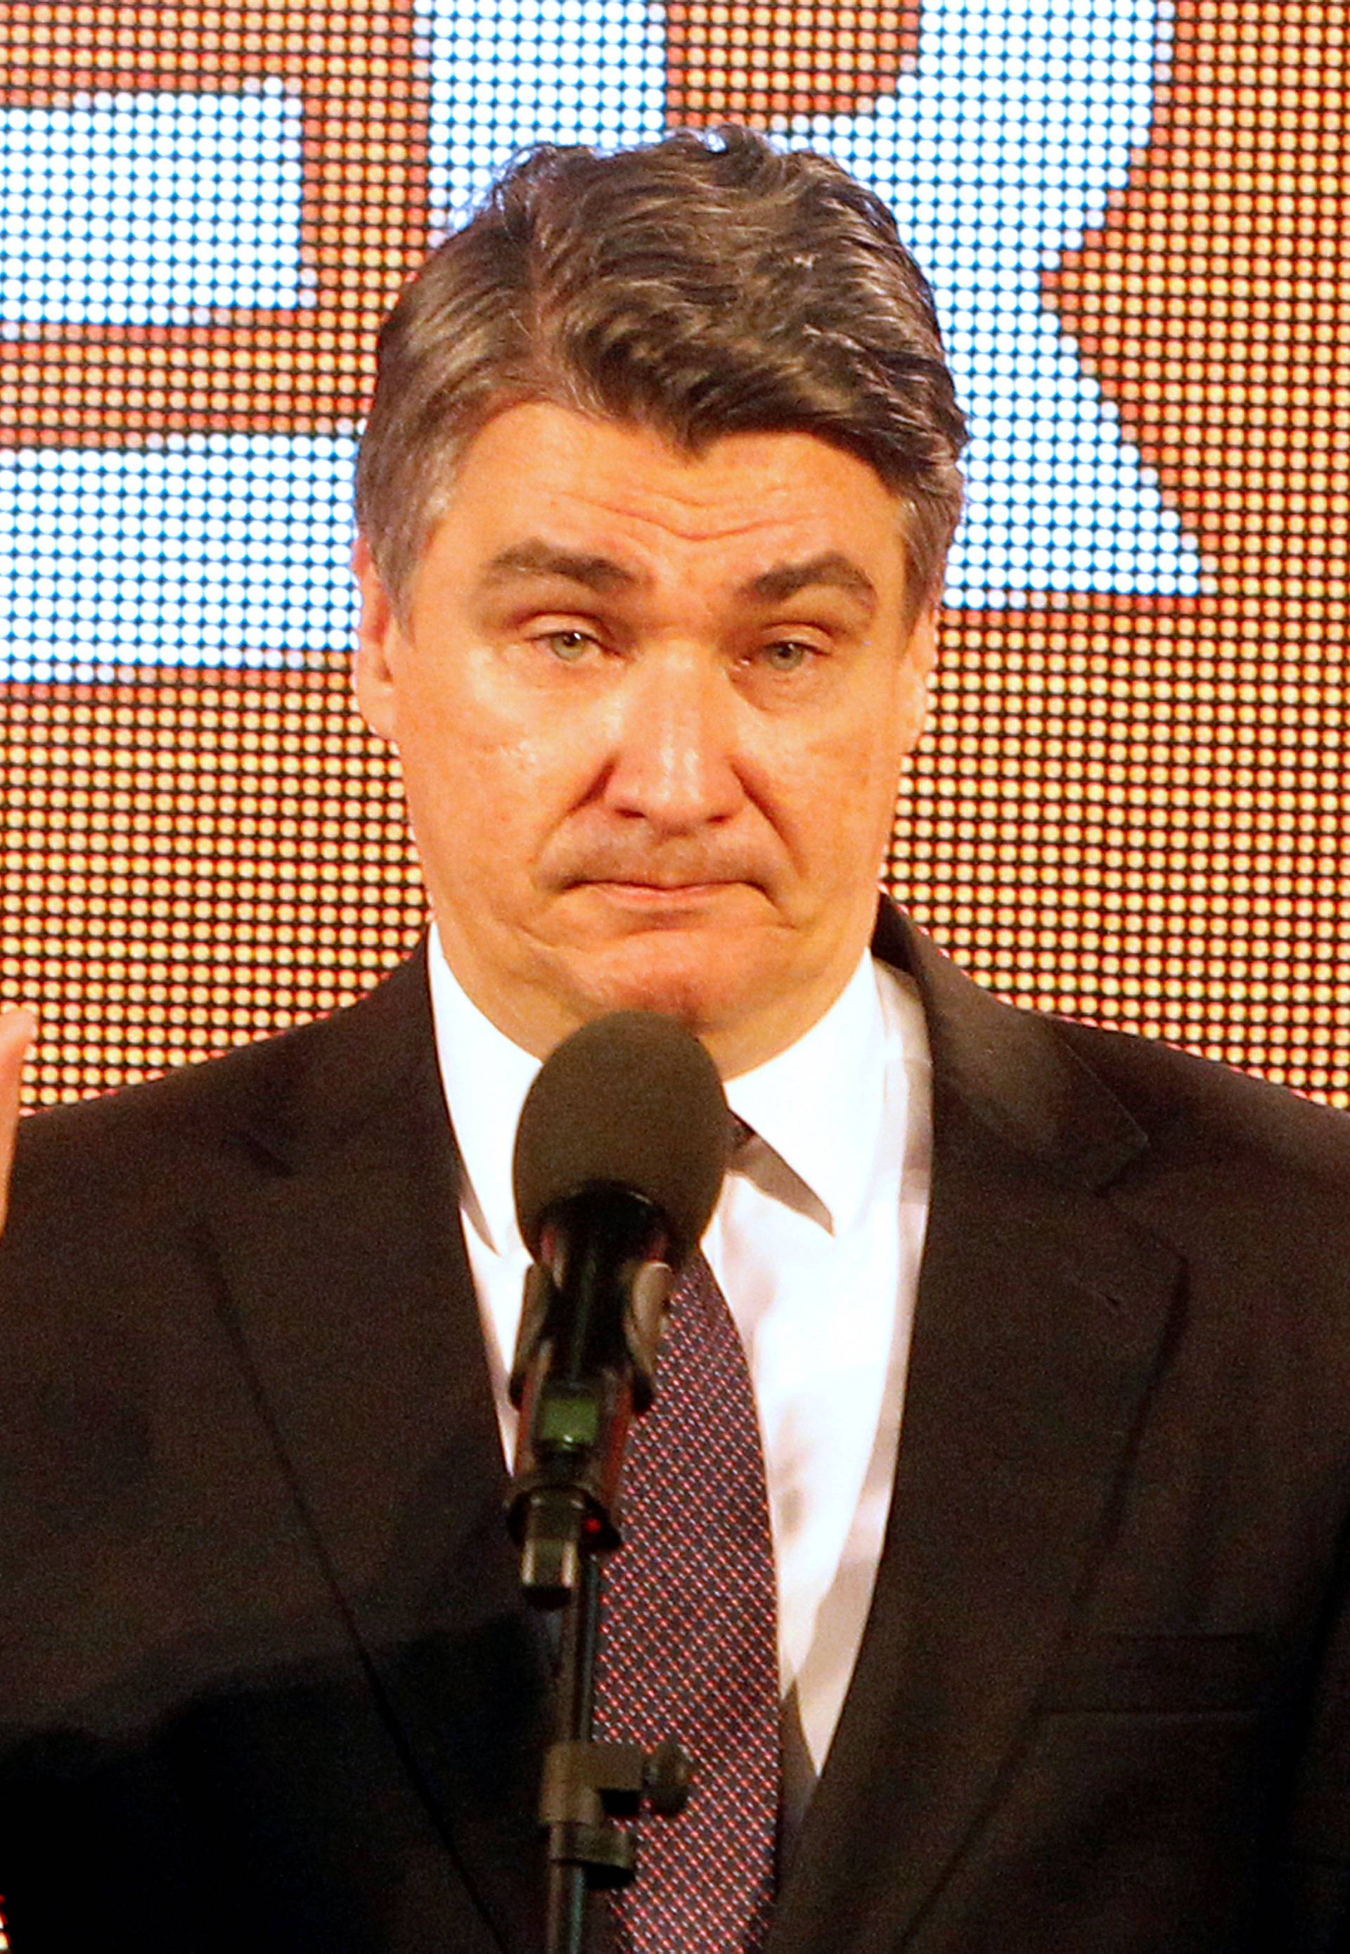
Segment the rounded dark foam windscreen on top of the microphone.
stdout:
[[631,1188],[664,1215],[682,1262],[707,1227],[731,1120],[697,1038],[653,1010],[584,1024],[545,1059],[516,1129],[516,1215],[531,1254],[551,1208],[594,1186]]

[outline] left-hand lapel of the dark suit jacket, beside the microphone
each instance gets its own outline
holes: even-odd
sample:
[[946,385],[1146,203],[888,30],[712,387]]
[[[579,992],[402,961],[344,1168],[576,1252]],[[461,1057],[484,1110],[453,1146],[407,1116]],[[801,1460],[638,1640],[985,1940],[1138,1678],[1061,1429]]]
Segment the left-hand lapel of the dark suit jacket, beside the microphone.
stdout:
[[547,1659],[504,1534],[424,957],[270,1086],[211,1227],[227,1315],[412,1778],[502,1946],[539,1946]]

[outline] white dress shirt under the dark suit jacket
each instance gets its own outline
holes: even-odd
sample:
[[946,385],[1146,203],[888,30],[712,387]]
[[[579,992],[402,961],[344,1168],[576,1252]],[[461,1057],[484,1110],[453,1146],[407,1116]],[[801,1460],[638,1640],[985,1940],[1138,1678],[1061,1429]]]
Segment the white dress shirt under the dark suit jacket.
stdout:
[[[436,932],[430,973],[469,1264],[510,1460],[506,1376],[529,1266],[510,1167],[539,1061],[465,997]],[[703,1251],[754,1383],[781,1690],[819,1772],[871,1606],[928,1221],[932,1067],[914,985],[864,956],[830,1010],[787,1051],[731,1079],[727,1098],[756,1137],[733,1157]],[[787,1805],[795,1802],[789,1784]]]

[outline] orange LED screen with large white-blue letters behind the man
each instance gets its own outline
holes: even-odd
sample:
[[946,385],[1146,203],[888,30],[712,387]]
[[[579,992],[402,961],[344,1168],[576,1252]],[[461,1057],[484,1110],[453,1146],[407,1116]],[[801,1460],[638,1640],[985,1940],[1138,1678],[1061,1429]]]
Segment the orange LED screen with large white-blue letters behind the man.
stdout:
[[31,1090],[363,991],[424,897],[348,698],[381,313],[539,137],[838,154],[977,428],[891,875],[1020,1002],[1350,1104],[1344,8],[0,10],[0,995]]

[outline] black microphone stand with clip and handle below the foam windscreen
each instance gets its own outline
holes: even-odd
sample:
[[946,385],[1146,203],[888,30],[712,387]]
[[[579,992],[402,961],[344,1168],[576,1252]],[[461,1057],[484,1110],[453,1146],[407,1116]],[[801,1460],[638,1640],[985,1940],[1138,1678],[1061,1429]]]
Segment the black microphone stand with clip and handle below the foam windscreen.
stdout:
[[[582,1253],[567,1270],[561,1231],[526,1278],[512,1366],[520,1405],[508,1524],[526,1598],[563,1610],[555,1737],[543,1761],[539,1821],[547,1833],[547,1954],[584,1954],[590,1895],[637,1878],[637,1841],[621,1819],[643,1800],[684,1809],[690,1763],[674,1741],[645,1753],[594,1737],[596,1641],[604,1557],[621,1544],[617,1485],[633,1415],[653,1397],[656,1346],[674,1282],[653,1256],[653,1215],[621,1196],[604,1235],[629,1225],[635,1254]],[[615,1194],[615,1210],[619,1196]],[[664,1247],[664,1245],[662,1245]],[[567,1290],[567,1301],[565,1297]]]

